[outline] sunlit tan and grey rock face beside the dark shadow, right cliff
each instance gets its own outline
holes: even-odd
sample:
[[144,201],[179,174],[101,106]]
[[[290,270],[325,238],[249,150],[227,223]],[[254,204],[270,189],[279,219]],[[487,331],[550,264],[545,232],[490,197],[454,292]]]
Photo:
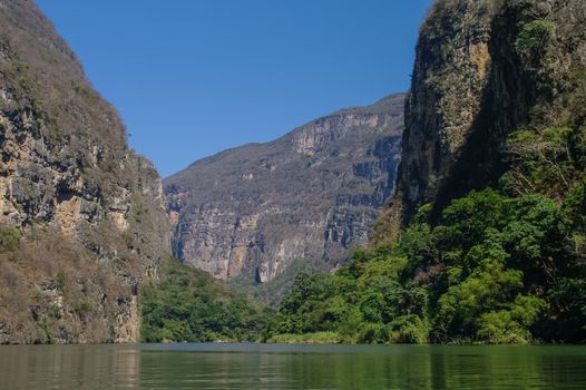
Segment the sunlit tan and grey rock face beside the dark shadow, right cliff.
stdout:
[[[421,27],[406,109],[395,202],[379,224],[394,236],[417,206],[431,202],[469,135],[488,82],[490,2],[439,1]],[[384,226],[384,228],[383,228]]]

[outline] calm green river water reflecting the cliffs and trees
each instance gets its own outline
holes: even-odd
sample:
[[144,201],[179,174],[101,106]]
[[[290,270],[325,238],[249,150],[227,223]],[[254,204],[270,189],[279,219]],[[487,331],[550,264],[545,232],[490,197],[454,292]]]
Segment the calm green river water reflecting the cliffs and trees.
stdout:
[[0,347],[0,389],[586,389],[586,348]]

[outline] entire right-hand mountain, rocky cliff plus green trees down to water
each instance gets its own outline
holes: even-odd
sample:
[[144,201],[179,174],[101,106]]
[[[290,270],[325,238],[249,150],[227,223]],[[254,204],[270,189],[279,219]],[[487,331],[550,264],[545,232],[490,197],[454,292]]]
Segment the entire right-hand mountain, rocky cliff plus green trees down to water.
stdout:
[[438,0],[370,250],[300,276],[273,341],[586,342],[586,2]]

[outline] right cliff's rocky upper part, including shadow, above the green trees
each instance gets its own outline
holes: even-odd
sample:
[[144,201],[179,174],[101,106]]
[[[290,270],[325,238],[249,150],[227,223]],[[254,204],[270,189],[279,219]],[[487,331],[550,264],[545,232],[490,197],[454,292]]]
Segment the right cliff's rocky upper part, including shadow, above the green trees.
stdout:
[[569,117],[585,12],[583,0],[436,2],[417,46],[397,194],[375,241],[393,240],[423,204],[434,218],[451,198],[496,185],[516,129]]

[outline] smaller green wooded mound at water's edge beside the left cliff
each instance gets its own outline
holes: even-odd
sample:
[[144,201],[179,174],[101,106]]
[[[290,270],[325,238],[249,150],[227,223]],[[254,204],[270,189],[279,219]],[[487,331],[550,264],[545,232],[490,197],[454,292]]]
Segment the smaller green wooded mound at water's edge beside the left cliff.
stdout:
[[140,293],[145,342],[257,341],[267,313],[207,273],[169,259]]

